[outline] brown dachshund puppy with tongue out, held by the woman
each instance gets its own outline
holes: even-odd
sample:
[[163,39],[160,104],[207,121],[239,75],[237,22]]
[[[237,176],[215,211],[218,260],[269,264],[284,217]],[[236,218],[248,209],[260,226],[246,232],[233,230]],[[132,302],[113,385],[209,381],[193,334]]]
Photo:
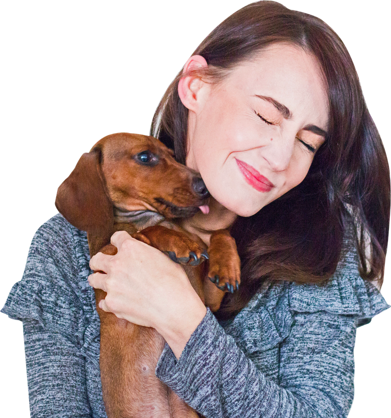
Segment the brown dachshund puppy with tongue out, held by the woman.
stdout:
[[[206,212],[208,197],[200,175],[176,162],[173,151],[156,138],[120,132],[101,138],[81,155],[58,187],[55,205],[72,225],[87,231],[91,256],[99,251],[115,254],[110,238],[125,230],[181,263],[199,297],[216,311],[225,292],[233,292],[240,282],[235,241],[221,229],[212,233],[207,248],[179,226],[181,218]],[[155,375],[163,337],[100,309],[105,297],[95,289],[108,417],[198,417]]]

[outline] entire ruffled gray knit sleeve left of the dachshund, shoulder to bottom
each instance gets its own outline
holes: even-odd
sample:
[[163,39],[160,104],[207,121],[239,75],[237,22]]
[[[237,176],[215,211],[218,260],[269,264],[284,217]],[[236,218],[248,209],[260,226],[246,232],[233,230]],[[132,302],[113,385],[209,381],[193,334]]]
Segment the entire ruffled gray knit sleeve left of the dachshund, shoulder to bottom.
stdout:
[[22,278],[1,310],[22,322],[31,418],[106,416],[103,407],[90,402],[99,403],[102,395],[100,381],[91,389],[88,376],[87,364],[99,358],[99,341],[90,337],[95,328],[99,336],[99,323],[92,322],[96,314],[84,244],[84,235],[59,214],[42,224],[31,241]]

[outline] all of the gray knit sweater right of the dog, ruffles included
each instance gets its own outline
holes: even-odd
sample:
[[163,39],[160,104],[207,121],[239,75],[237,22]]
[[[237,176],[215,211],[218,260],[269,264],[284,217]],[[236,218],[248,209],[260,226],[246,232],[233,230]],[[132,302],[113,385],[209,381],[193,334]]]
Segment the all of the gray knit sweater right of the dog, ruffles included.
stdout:
[[178,360],[165,345],[158,378],[206,418],[346,418],[357,328],[390,307],[351,236],[327,285],[274,283],[224,328],[207,309]]

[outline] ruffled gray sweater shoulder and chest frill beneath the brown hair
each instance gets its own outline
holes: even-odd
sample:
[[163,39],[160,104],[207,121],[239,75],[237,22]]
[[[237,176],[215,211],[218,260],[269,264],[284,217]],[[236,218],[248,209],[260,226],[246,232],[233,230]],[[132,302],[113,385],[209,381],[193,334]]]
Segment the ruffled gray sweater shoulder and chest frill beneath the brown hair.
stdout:
[[391,307],[372,282],[360,277],[350,232],[337,269],[326,284],[265,282],[234,320],[221,323],[242,349],[251,353],[259,347],[277,346],[289,335],[296,315],[314,314],[315,320],[323,312],[334,316],[335,323],[349,317],[360,327]]

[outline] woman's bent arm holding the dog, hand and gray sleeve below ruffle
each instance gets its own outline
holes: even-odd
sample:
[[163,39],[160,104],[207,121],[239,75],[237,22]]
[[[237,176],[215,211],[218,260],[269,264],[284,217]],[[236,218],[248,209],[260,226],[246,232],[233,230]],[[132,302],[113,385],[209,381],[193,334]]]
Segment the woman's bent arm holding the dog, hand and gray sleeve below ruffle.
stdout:
[[[89,277],[91,285],[108,292],[101,307],[152,326],[163,336],[179,335],[174,337],[175,352],[165,347],[156,373],[195,410],[213,418],[348,415],[354,398],[353,317],[326,311],[301,314],[302,321],[298,316],[280,346],[276,384],[255,367],[209,310],[202,317],[179,265],[126,232],[116,232],[112,244],[118,248],[116,255],[97,254],[90,262],[92,270],[107,273]],[[188,315],[200,321],[195,328],[193,321],[186,328]]]

